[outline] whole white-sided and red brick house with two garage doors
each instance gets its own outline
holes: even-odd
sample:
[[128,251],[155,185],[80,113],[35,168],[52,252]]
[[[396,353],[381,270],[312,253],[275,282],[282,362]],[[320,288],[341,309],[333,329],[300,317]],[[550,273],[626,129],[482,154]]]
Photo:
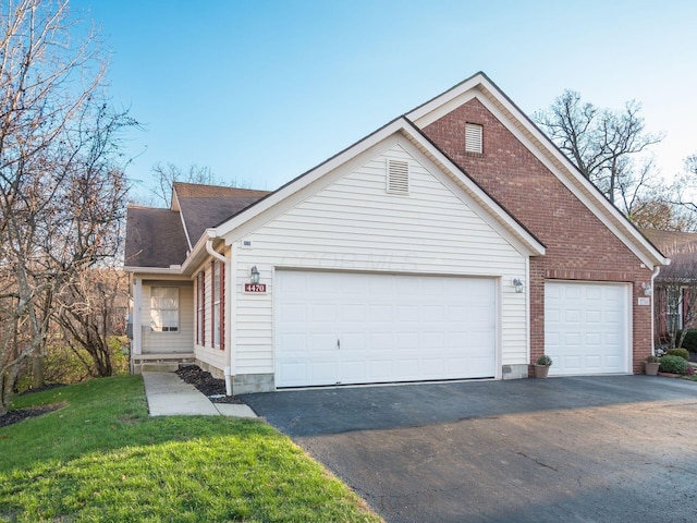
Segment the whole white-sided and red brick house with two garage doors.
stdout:
[[640,373],[667,263],[478,73],[272,193],[131,207],[132,353],[232,393]]

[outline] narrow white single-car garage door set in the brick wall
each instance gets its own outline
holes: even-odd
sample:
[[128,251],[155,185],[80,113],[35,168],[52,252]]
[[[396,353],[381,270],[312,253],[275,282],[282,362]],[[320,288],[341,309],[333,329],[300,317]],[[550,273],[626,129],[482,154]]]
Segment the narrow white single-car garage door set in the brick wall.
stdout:
[[550,375],[627,373],[628,285],[545,282],[545,352]]

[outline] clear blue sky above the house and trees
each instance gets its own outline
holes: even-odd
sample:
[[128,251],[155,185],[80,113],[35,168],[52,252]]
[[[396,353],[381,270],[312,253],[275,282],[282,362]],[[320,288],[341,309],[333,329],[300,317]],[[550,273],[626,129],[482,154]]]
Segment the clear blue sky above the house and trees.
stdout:
[[697,151],[697,2],[71,0],[110,51],[136,195],[157,162],[273,190],[484,71],[525,112],[636,99],[664,175]]

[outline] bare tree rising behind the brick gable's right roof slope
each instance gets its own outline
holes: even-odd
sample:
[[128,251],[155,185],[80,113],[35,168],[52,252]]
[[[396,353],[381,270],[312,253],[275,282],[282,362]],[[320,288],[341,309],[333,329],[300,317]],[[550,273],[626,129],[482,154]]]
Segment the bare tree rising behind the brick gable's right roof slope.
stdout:
[[634,100],[622,110],[599,109],[567,89],[534,120],[610,202],[629,212],[627,205],[656,178],[650,160],[637,168],[636,159],[663,138],[645,131],[640,110]]

